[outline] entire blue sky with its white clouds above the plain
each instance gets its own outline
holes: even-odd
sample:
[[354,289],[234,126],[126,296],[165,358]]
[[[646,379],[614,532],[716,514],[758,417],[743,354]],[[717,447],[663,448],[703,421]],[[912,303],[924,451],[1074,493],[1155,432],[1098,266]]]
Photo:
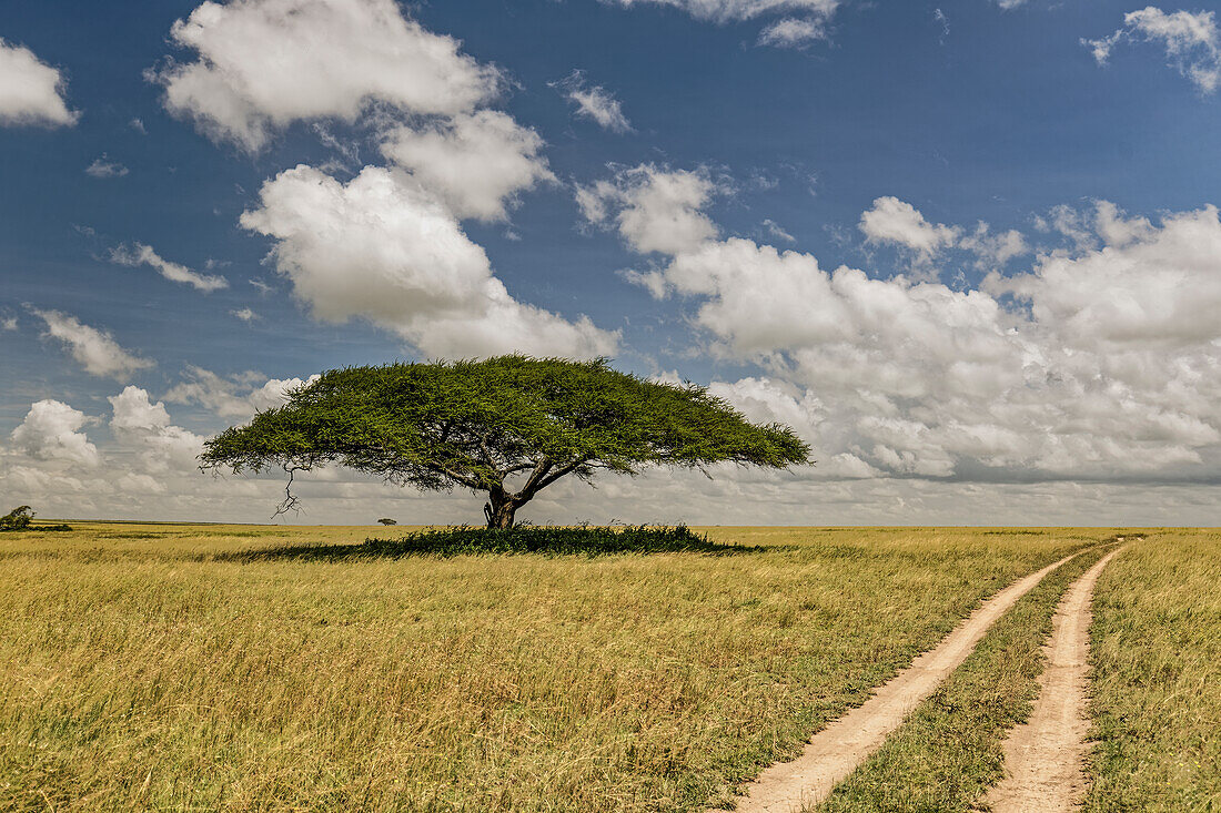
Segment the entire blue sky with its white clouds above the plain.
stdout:
[[[0,38],[10,502],[263,520],[204,437],[325,369],[524,350],[819,459],[536,520],[1221,520],[1206,4],[10,2]],[[294,521],[477,516],[306,488]]]

